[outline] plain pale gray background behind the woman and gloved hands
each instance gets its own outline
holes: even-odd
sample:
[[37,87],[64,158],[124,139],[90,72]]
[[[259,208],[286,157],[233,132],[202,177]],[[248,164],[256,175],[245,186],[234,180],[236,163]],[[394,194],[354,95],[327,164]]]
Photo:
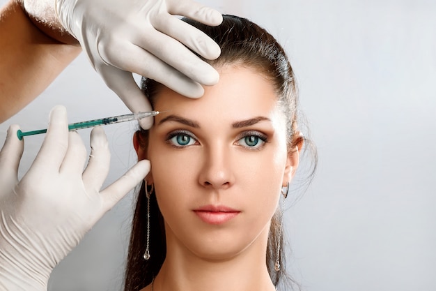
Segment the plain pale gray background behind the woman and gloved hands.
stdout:
[[[201,3],[267,27],[295,69],[319,153],[313,183],[286,212],[288,269],[303,289],[436,290],[436,1]],[[81,54],[0,125],[0,140],[10,124],[45,128],[56,104],[70,122],[128,112]],[[106,185],[134,164],[135,128],[105,128]],[[88,144],[89,130],[80,133]],[[20,175],[41,142],[26,138]],[[131,212],[130,194],[55,269],[49,290],[120,290]]]

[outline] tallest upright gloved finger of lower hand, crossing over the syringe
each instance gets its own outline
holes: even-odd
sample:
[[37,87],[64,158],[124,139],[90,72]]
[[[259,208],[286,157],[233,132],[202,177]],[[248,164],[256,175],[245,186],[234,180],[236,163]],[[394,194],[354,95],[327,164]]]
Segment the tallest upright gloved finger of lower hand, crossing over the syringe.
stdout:
[[46,170],[59,171],[63,158],[68,149],[68,120],[67,110],[61,105],[55,106],[50,112],[47,135],[38,155],[33,162],[34,166],[41,165]]

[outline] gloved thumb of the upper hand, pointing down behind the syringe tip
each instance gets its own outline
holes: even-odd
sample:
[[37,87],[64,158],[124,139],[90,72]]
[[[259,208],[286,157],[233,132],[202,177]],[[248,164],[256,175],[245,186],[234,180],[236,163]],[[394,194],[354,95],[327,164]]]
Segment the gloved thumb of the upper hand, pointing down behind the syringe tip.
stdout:
[[[132,73],[112,66],[104,66],[104,68],[99,68],[98,71],[107,86],[123,100],[130,111],[146,112],[152,110],[150,101],[143,94],[143,91],[139,89]],[[148,129],[153,126],[153,117],[143,118],[139,121],[139,124],[142,128]]]

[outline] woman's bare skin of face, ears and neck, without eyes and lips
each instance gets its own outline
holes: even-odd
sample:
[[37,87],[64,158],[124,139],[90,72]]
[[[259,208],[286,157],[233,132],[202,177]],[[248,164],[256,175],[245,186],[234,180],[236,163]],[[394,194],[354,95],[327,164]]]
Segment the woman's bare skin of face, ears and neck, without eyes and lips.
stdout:
[[[281,187],[295,174],[298,147],[286,147],[286,118],[271,82],[242,66],[219,73],[219,83],[198,100],[159,90],[155,110],[170,111],[155,117],[147,149],[134,137],[139,159],[151,162],[146,181],[155,185],[165,218],[167,253],[155,291],[275,290],[265,265],[267,237]],[[205,205],[237,214],[206,223],[194,211]]]

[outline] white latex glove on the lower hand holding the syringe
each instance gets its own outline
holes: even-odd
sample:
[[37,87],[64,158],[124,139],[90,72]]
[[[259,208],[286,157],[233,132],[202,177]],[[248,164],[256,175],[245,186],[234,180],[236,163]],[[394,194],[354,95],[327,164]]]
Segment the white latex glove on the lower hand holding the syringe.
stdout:
[[47,290],[56,264],[150,170],[140,161],[100,191],[110,160],[104,131],[93,129],[83,171],[86,149],[77,133],[68,132],[65,108],[50,115],[42,147],[21,181],[18,126],[9,128],[0,151],[0,290]]

